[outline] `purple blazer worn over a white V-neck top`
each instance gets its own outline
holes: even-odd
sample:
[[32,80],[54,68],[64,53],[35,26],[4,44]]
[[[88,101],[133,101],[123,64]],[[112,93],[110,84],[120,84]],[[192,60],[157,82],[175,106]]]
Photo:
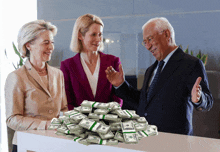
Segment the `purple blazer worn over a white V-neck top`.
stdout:
[[61,62],[60,69],[63,71],[65,80],[65,90],[68,102],[68,109],[81,105],[83,100],[96,102],[116,101],[122,106],[123,100],[115,95],[114,87],[107,80],[105,70],[112,66],[116,71],[119,70],[120,59],[113,55],[100,53],[100,70],[94,98],[92,89],[87,79],[86,73],[80,61],[80,54]]

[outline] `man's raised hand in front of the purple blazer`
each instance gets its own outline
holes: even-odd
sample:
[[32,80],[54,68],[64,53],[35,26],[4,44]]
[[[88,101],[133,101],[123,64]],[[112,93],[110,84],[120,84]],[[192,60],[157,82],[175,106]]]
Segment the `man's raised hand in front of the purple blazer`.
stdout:
[[116,87],[118,87],[125,81],[124,72],[121,64],[119,65],[119,72],[115,71],[112,66],[109,66],[105,70],[105,73],[108,81]]

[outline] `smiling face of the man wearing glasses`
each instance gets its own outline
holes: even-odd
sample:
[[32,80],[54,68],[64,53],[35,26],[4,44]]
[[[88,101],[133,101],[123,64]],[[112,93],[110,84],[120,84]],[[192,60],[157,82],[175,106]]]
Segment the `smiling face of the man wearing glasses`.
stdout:
[[[168,32],[168,33],[167,33]],[[155,29],[154,23],[149,23],[143,30],[143,43],[156,60],[163,60],[168,54],[169,31]]]

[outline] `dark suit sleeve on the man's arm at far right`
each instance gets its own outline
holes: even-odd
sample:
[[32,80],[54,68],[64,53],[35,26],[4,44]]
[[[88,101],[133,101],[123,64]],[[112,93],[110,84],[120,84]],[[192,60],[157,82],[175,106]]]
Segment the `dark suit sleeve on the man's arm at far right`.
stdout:
[[205,71],[205,67],[202,61],[200,60],[197,61],[194,70],[188,79],[189,80],[188,88],[190,92],[198,77],[202,77],[202,81],[200,82],[200,85],[202,87],[202,94],[199,104],[194,104],[194,106],[199,111],[209,111],[213,106],[213,97],[209,90],[208,77]]

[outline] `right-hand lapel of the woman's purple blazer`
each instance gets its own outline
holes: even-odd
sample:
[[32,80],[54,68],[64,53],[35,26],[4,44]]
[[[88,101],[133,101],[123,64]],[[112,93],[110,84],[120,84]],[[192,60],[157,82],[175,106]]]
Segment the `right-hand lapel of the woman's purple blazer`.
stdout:
[[108,83],[108,80],[106,79],[106,73],[105,70],[107,69],[108,66],[106,64],[106,55],[103,54],[102,52],[100,53],[100,69],[99,69],[99,77],[98,77],[98,83],[97,83],[97,89],[96,89],[96,96],[95,99],[98,99],[99,96],[102,96],[102,91],[103,88],[106,86],[106,83]]

